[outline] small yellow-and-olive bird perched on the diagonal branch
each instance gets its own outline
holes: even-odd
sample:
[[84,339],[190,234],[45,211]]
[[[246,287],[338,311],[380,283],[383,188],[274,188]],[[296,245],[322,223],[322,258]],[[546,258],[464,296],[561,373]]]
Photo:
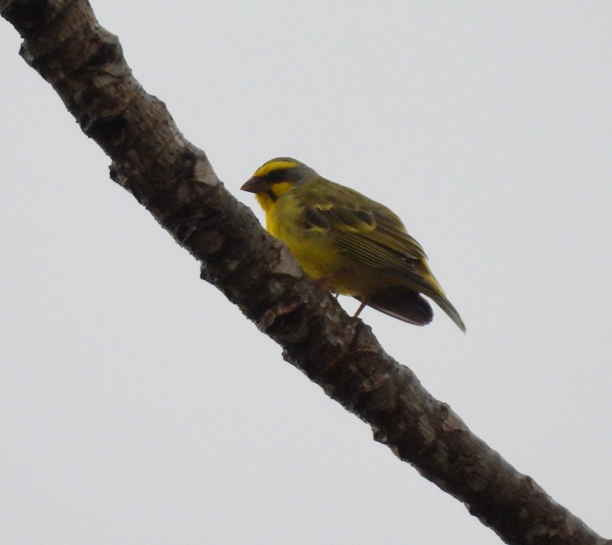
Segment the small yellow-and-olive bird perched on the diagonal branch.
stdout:
[[433,318],[424,294],[466,331],[422,247],[389,208],[289,157],[271,159],[241,189],[255,193],[266,229],[310,278],[361,301],[355,316],[368,305],[423,326]]

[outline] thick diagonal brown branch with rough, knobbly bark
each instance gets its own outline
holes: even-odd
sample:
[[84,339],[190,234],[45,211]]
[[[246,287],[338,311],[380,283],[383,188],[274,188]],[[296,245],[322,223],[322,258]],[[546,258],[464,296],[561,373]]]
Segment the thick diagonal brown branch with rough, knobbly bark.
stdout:
[[412,464],[512,544],[604,544],[474,436],[412,371],[384,353],[286,247],[225,190],[203,151],[187,142],[162,101],[144,92],[119,40],[84,0],[0,0],[24,38],[21,56],[111,158],[130,191],[201,262],[201,276],[238,305],[330,397],[371,425]]

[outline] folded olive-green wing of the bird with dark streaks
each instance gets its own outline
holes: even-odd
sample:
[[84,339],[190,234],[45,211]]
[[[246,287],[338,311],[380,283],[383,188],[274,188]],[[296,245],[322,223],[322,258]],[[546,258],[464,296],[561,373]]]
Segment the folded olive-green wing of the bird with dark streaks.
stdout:
[[305,191],[300,199],[306,221],[327,230],[348,257],[430,290],[431,283],[423,277],[427,256],[400,219],[352,189],[324,182]]

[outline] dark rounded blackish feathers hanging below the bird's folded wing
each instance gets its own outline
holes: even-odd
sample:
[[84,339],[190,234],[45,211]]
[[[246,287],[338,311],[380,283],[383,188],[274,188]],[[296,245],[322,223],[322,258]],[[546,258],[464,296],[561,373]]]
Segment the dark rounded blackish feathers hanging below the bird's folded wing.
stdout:
[[[360,297],[355,299],[361,301]],[[403,286],[379,291],[370,296],[366,304],[368,307],[416,326],[425,326],[433,319],[430,304],[419,293]]]

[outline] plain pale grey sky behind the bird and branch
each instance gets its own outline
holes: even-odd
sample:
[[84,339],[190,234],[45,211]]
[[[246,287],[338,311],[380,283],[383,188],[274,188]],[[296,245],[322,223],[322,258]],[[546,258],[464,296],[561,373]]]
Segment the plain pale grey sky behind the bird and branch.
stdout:
[[[612,536],[612,3],[215,4],[93,0],[243,202],[292,155],[405,220],[468,334],[362,317]],[[0,541],[499,543],[198,279],[19,45],[2,21]]]

